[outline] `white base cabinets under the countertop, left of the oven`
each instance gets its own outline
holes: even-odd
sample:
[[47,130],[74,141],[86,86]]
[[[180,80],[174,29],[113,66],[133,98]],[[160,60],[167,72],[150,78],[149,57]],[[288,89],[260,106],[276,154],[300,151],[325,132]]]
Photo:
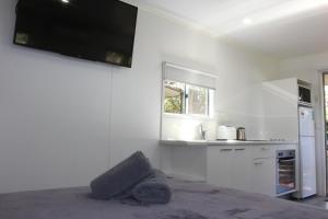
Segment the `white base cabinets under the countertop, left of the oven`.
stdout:
[[210,184],[274,195],[276,159],[272,146],[208,148]]

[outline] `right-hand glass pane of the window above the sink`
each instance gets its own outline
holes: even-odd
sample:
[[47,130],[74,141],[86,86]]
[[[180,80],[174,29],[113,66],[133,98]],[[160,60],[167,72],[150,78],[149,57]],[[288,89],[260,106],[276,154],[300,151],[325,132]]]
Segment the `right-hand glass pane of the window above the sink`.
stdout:
[[208,89],[187,85],[188,114],[208,115]]

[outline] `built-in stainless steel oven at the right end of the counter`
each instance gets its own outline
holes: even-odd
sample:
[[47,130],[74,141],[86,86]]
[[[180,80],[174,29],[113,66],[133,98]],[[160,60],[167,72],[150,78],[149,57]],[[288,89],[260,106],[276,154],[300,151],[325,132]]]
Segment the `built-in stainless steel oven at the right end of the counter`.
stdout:
[[295,150],[277,151],[277,194],[286,194],[296,189]]

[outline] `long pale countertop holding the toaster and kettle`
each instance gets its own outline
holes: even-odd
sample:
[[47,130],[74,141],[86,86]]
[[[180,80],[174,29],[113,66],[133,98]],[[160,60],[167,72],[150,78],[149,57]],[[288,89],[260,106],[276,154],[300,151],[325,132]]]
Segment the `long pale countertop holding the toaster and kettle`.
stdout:
[[160,140],[165,146],[254,146],[254,145],[297,145],[297,141],[270,140]]

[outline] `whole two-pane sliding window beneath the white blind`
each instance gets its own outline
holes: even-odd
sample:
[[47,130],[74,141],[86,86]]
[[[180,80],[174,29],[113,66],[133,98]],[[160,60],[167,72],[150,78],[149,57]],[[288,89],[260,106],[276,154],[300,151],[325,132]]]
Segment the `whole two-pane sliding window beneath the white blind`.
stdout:
[[176,81],[164,81],[164,113],[209,116],[213,90]]

